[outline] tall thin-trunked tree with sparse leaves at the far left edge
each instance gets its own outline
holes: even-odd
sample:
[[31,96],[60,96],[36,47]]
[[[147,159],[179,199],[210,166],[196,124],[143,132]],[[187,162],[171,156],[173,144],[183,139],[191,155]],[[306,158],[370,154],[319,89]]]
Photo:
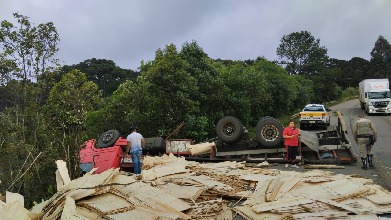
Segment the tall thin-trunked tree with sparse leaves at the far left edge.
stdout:
[[[14,25],[6,20],[0,26],[0,82],[2,86],[2,111],[7,112],[14,126],[12,134],[23,144],[20,160],[30,165],[39,152],[38,158],[27,171],[21,182],[18,182],[18,191],[25,195],[29,206],[33,200],[45,197],[47,184],[45,180],[52,176],[47,172],[50,166],[47,159],[48,140],[45,137],[45,119],[43,105],[52,88],[52,76],[58,67],[55,59],[60,42],[59,34],[52,22],[32,24],[28,17],[14,13],[18,24]],[[11,140],[12,139],[8,139]],[[13,143],[6,143],[11,146]],[[31,151],[31,153],[29,153]],[[16,157],[13,159],[17,160]],[[15,169],[25,171],[15,162]],[[42,178],[41,178],[42,177]]]

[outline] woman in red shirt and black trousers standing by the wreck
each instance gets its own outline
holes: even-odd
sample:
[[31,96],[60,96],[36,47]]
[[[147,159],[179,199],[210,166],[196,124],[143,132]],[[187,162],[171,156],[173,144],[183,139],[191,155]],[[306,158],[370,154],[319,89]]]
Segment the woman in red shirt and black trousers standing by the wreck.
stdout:
[[292,168],[300,168],[296,165],[296,152],[299,148],[299,139],[297,136],[301,136],[301,132],[298,128],[295,128],[294,121],[289,120],[289,126],[284,129],[282,137],[285,138],[285,148],[287,148],[287,163],[285,167],[288,168],[288,162],[292,162]]

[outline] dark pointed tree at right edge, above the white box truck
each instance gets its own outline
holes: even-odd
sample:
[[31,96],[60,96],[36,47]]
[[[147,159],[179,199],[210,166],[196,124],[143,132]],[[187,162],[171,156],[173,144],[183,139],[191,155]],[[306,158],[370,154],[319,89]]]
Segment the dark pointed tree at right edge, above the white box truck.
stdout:
[[390,78],[391,45],[383,36],[378,37],[375,47],[371,51],[371,56],[370,78]]

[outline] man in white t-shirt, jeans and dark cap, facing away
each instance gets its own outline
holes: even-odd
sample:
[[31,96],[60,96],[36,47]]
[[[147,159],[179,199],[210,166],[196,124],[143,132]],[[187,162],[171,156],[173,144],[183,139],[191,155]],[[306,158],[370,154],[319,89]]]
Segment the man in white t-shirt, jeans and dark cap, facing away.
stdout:
[[141,153],[145,146],[145,141],[140,133],[137,133],[137,127],[132,125],[130,127],[130,134],[127,135],[127,145],[125,156],[131,155],[133,166],[135,167],[135,174],[141,173]]

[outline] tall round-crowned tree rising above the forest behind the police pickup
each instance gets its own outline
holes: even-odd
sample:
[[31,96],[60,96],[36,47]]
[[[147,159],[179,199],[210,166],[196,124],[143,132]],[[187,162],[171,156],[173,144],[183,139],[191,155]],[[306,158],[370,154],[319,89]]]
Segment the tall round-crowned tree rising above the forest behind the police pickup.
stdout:
[[308,31],[284,35],[276,54],[280,60],[284,59],[280,63],[290,74],[314,74],[328,61],[326,47],[321,47],[320,39],[315,39]]

